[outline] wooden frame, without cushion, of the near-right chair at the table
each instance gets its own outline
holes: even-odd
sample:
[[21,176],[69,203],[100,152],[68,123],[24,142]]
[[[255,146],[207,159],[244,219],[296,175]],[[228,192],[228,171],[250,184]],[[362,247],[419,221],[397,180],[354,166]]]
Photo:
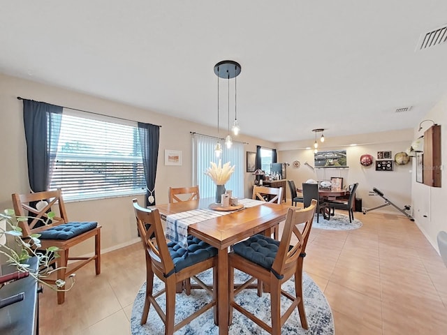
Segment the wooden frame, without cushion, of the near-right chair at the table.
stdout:
[[[230,253],[228,255],[230,323],[233,318],[233,308],[236,308],[237,311],[240,311],[240,313],[245,315],[247,318],[255,322],[256,325],[262,327],[270,334],[280,335],[282,325],[284,325],[288,317],[291,315],[293,309],[298,307],[301,325],[304,329],[308,329],[305,306],[302,299],[302,265],[305,257],[307,240],[309,239],[309,233],[312,228],[315,209],[316,200],[312,200],[312,204],[305,209],[295,209],[293,207],[288,209],[284,231],[281,241],[279,242],[276,258],[274,259],[272,265],[272,271],[265,269],[265,267],[261,267],[260,265],[256,265],[254,262],[251,262],[250,260],[237,255],[236,253]],[[305,223],[305,227],[302,228],[302,232],[300,232],[297,227],[300,223]],[[298,242],[291,247],[292,234],[295,234]],[[241,285],[240,288],[235,290],[234,269],[239,269],[240,271],[249,274],[251,277],[258,278],[258,281],[262,281],[263,283],[267,283],[269,285],[272,313],[271,326],[235,302],[235,295],[241,292],[244,285]],[[283,276],[283,278],[277,278],[273,272],[277,273],[279,276]],[[295,297],[288,292],[281,290],[281,284],[288,281],[291,276],[295,276]],[[252,278],[250,281],[251,280]],[[291,306],[287,308],[283,315],[281,315],[280,310],[281,295],[284,295],[284,297],[287,297],[292,301]]]

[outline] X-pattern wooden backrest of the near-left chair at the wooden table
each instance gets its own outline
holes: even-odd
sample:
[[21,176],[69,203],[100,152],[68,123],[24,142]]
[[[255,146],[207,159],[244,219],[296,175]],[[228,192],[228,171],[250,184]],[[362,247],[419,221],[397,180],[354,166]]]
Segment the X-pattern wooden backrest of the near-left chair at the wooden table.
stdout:
[[143,208],[136,199],[133,199],[133,209],[138,232],[140,232],[142,243],[151,258],[152,264],[156,265],[163,274],[170,273],[174,269],[174,262],[170,257],[159,210]]

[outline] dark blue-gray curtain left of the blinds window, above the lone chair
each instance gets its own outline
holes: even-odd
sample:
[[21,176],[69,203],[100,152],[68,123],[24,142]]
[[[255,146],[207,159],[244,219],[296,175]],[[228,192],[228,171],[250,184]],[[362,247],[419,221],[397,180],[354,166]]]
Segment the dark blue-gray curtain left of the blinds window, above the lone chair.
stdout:
[[27,141],[29,187],[47,191],[61,131],[62,107],[23,100],[23,121]]

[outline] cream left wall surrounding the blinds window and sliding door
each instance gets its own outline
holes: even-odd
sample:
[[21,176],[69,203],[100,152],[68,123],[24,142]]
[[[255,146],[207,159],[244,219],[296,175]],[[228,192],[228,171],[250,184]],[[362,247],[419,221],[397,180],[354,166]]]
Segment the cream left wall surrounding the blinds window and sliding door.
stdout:
[[[26,145],[24,139],[22,101],[17,96],[35,101],[45,101],[54,105],[88,110],[112,117],[122,117],[135,121],[147,122],[161,126],[159,163],[156,175],[156,202],[168,202],[169,186],[191,185],[191,135],[190,132],[205,135],[217,135],[216,128],[194,124],[182,119],[167,117],[166,115],[143,110],[138,107],[123,105],[87,94],[67,91],[45,84],[39,84],[15,77],[0,75],[0,209],[12,208],[12,193],[29,192]],[[242,125],[243,131],[244,125]],[[235,140],[249,142],[246,151],[256,151],[256,144],[274,147],[272,142],[258,140],[253,137],[239,135]],[[165,149],[181,150],[182,166],[165,166]],[[253,176],[245,173],[246,196],[251,197],[249,185],[253,183]],[[98,221],[103,228],[101,232],[101,247],[103,251],[119,248],[138,241],[135,218],[131,199],[134,197],[108,198],[66,204],[68,217],[78,221]],[[143,196],[138,196],[143,202]],[[89,243],[88,241],[85,242]],[[91,251],[90,246],[79,246],[74,254],[84,254]]]

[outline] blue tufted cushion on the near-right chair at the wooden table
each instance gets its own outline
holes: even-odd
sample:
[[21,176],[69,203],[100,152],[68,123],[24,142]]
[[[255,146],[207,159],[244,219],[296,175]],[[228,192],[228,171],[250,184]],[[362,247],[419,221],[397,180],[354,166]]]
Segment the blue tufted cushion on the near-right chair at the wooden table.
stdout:
[[[277,257],[279,241],[261,234],[256,234],[233,246],[233,251],[251,262],[272,271],[274,258]],[[282,279],[284,276],[274,274]]]

